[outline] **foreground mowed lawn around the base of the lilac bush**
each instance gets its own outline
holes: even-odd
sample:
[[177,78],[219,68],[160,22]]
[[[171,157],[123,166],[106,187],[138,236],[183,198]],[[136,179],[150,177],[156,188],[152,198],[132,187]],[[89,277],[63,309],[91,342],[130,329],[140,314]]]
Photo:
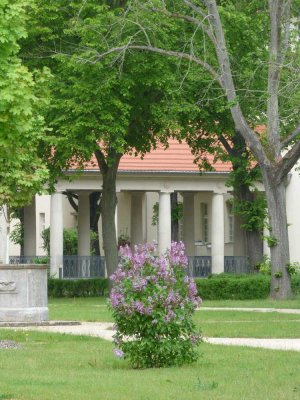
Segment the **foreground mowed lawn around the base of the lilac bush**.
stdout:
[[300,353],[201,344],[193,365],[133,370],[101,339],[0,330],[0,399],[298,400]]

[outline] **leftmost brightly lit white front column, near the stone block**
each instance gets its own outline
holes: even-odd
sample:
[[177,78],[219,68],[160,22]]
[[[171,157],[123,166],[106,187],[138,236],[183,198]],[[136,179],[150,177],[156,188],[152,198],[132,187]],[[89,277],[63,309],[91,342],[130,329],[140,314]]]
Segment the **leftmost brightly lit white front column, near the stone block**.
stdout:
[[51,195],[50,210],[50,274],[59,277],[59,269],[63,267],[63,195]]

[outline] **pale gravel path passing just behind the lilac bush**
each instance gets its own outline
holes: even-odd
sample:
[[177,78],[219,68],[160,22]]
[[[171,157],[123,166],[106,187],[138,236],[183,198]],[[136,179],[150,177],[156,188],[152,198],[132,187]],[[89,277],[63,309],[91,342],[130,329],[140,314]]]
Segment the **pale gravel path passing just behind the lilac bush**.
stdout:
[[[12,328],[6,328],[12,329]],[[73,326],[30,326],[14,327],[13,329],[34,330],[39,332],[57,332],[71,335],[88,335],[113,340],[113,323],[109,322],[82,322]],[[300,351],[299,339],[255,339],[255,338],[204,338],[204,341],[216,345],[262,347],[276,350]]]

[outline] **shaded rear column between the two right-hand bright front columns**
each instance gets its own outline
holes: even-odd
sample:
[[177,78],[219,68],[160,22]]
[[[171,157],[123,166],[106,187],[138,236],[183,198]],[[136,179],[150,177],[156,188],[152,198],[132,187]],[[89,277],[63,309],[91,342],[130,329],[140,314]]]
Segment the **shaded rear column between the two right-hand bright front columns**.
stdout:
[[194,193],[182,193],[183,197],[183,241],[186,254],[195,255],[195,207]]

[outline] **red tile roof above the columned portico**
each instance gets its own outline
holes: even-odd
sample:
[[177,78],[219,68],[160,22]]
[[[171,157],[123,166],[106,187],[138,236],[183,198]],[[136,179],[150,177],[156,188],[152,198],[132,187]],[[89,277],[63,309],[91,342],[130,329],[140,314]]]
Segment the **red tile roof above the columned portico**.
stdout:
[[[228,172],[231,170],[230,163],[217,161],[213,163],[213,156],[206,154],[205,157],[212,163],[216,172]],[[164,149],[159,145],[157,149],[147,153],[143,159],[133,155],[124,155],[121,158],[119,171],[132,172],[198,172],[199,168],[194,163],[195,156],[186,142],[179,143],[175,139],[169,140],[169,147]],[[91,160],[85,166],[85,170],[98,169],[96,160]]]

